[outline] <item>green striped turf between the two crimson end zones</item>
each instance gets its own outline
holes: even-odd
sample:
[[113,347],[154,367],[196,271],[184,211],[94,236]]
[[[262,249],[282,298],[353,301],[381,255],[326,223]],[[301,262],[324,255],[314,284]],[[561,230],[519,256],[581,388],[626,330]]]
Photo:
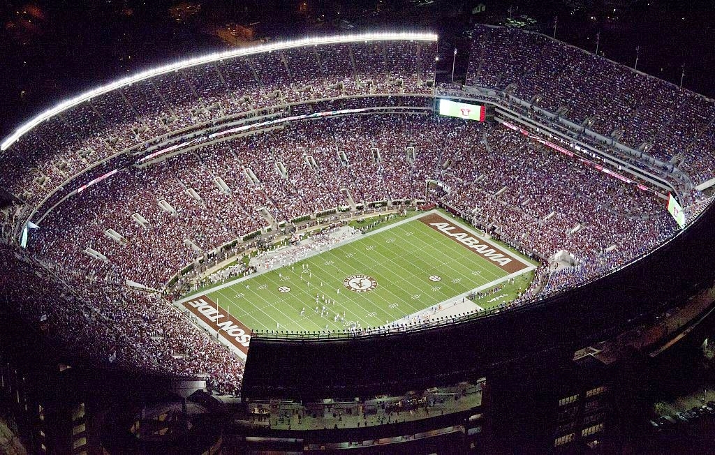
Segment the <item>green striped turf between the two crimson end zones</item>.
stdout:
[[[307,265],[309,273],[304,271]],[[378,281],[368,292],[346,289],[342,281],[350,275],[365,274]],[[385,231],[362,236],[335,246],[296,264],[274,269],[223,289],[210,289],[213,301],[250,329],[316,331],[342,330],[350,321],[363,327],[382,326],[406,315],[463,294],[470,289],[506,276],[490,261],[426,226],[418,219],[391,226]],[[441,280],[430,281],[430,275]],[[478,300],[490,308],[513,299],[517,289],[525,289],[533,274],[525,274],[513,285],[504,286],[498,301],[492,296]],[[290,292],[281,293],[281,286]],[[338,293],[338,289],[340,292]],[[328,316],[315,312],[315,297],[335,300],[327,304]],[[305,314],[300,311],[305,307]],[[345,321],[334,321],[342,316]]]

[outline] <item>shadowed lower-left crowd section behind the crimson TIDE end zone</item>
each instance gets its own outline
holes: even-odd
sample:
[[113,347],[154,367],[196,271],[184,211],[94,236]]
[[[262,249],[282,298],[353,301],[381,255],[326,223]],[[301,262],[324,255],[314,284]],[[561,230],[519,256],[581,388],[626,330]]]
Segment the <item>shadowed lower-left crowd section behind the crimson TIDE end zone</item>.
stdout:
[[104,368],[204,377],[211,389],[239,390],[243,362],[159,296],[87,277],[0,244],[4,296],[59,346]]

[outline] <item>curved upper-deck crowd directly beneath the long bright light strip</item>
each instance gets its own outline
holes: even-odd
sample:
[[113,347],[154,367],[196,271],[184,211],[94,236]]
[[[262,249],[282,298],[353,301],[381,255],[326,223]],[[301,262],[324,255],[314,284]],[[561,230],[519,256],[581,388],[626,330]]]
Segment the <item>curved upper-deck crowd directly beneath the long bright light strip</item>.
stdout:
[[193,66],[95,96],[51,117],[0,159],[0,185],[41,201],[90,166],[207,122],[270,106],[372,94],[433,93],[437,44],[323,44]]

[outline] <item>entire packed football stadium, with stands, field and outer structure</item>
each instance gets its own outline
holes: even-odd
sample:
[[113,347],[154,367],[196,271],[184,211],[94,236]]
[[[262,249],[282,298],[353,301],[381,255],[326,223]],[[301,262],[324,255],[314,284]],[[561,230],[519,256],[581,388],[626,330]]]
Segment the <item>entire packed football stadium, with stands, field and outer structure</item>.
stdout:
[[[92,369],[222,397],[223,453],[516,444],[519,384],[711,284],[715,102],[501,26],[438,83],[439,39],[271,41],[37,114],[1,144],[6,300]],[[597,446],[611,386],[553,384],[580,410],[544,450]]]

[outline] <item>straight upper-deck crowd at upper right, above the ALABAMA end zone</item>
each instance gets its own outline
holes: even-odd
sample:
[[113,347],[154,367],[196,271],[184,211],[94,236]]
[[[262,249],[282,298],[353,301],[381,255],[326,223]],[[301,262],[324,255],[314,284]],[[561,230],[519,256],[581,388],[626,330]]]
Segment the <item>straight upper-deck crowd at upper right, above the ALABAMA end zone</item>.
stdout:
[[466,84],[514,96],[661,161],[715,177],[715,103],[627,66],[519,29],[477,26]]

